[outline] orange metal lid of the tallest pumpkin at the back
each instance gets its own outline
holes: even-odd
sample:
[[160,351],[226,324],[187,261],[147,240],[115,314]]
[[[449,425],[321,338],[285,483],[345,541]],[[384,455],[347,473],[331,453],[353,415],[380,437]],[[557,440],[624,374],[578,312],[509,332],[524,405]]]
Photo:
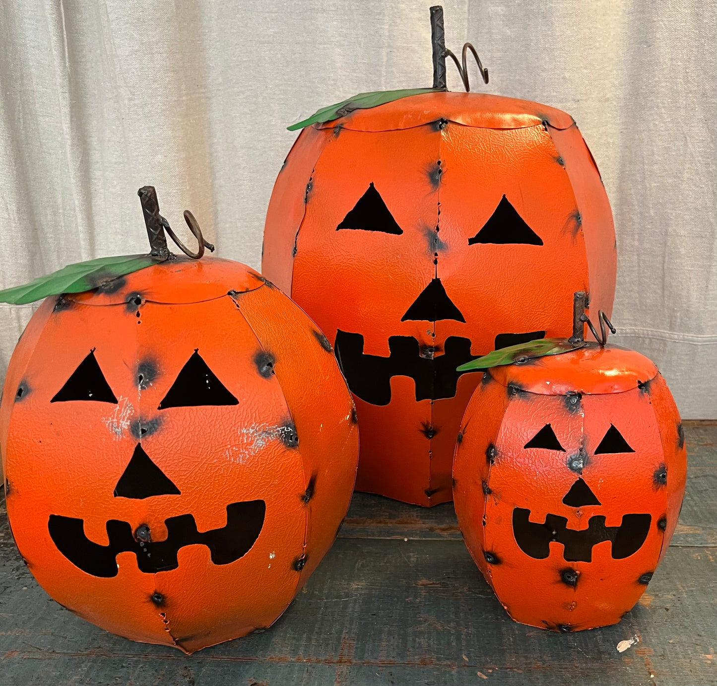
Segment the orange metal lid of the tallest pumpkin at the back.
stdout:
[[528,100],[488,93],[433,91],[409,95],[368,109],[354,109],[346,116],[318,123],[317,126],[341,126],[350,131],[390,131],[441,119],[478,128],[526,128],[547,121],[553,128],[562,129],[575,123],[569,114],[561,110]]

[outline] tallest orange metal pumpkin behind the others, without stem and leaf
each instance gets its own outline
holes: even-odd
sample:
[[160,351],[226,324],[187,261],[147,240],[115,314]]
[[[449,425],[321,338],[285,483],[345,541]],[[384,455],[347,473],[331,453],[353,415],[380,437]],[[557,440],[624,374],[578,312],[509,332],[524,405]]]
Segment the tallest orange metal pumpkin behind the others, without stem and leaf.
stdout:
[[569,115],[414,95],[305,128],[274,187],[262,270],[333,342],[361,428],[356,489],[452,497],[458,422],[495,347],[608,314],[614,228]]

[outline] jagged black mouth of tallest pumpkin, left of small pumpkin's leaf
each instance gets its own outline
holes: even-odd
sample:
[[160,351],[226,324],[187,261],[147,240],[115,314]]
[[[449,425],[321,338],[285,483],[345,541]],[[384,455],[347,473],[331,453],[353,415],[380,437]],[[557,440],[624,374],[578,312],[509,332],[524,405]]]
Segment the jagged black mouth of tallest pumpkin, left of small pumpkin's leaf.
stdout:
[[371,405],[391,402],[391,377],[411,377],[416,384],[416,400],[453,398],[458,377],[457,367],[475,360],[470,354],[470,339],[450,336],[444,353],[422,357],[419,342],[412,336],[389,337],[389,357],[364,354],[364,337],[340,329],[334,342],[336,360],[353,395]]

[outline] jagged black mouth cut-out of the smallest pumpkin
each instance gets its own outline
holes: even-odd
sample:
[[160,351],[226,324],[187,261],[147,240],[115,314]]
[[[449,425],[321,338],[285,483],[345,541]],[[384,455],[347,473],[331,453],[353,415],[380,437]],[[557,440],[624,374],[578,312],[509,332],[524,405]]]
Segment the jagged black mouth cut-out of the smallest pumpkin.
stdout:
[[536,560],[550,555],[551,542],[563,545],[566,562],[592,562],[592,547],[596,543],[612,542],[614,560],[629,558],[642,548],[650,532],[650,514],[624,514],[619,527],[606,527],[604,515],[590,517],[588,528],[574,530],[567,527],[567,518],[546,514],[545,523],[531,522],[530,510],[513,509],[513,536],[518,548]]

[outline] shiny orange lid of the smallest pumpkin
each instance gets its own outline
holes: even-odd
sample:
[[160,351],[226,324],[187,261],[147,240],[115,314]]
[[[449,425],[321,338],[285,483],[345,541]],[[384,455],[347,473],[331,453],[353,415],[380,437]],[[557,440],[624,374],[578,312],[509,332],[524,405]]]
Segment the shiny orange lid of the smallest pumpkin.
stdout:
[[658,370],[654,362],[634,350],[589,343],[521,365],[491,367],[488,373],[506,387],[515,385],[541,395],[566,395],[624,393],[654,379]]

